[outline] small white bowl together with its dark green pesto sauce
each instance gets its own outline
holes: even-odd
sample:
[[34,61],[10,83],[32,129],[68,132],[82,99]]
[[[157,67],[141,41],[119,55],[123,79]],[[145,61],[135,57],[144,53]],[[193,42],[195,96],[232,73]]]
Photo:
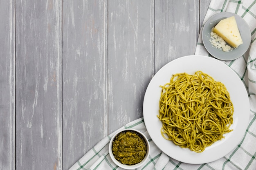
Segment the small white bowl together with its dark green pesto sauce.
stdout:
[[149,152],[148,139],[136,129],[119,130],[110,140],[110,157],[120,168],[139,168],[146,163]]

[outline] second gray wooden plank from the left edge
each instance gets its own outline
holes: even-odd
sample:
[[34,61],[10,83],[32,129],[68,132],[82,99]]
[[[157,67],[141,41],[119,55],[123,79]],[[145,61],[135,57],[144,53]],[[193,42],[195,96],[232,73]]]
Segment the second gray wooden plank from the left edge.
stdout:
[[61,0],[16,0],[16,167],[62,169]]

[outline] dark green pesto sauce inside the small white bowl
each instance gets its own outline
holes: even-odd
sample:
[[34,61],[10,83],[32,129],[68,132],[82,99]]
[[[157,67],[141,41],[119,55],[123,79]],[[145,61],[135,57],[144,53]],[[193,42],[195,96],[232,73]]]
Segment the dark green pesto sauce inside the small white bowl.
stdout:
[[141,135],[133,131],[124,131],[115,137],[112,152],[118,161],[126,165],[141,162],[147,152],[146,141]]

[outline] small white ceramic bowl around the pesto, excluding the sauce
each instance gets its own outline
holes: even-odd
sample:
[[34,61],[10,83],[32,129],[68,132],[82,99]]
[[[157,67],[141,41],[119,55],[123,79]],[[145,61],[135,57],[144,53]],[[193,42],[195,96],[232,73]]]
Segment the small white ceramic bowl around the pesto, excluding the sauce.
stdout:
[[[143,138],[145,139],[145,141],[146,141],[146,145],[147,145],[147,152],[146,152],[146,155],[145,155],[144,159],[143,159],[141,162],[139,162],[139,163],[137,163],[137,164],[135,164],[135,165],[125,165],[125,164],[122,164],[121,162],[119,162],[119,161],[117,161],[117,160],[115,159],[115,157],[114,157],[114,155],[113,155],[113,153],[112,153],[112,142],[113,142],[113,140],[115,139],[115,137],[116,137],[119,133],[124,132],[124,131],[134,131],[134,132],[138,133],[139,135],[141,135],[141,137],[143,137]],[[119,166],[120,168],[124,168],[124,169],[127,169],[127,170],[136,169],[136,168],[139,168],[140,166],[144,165],[144,164],[146,163],[146,161],[147,161],[147,159],[148,159],[148,156],[149,156],[149,153],[150,153],[150,145],[149,145],[149,142],[148,142],[147,137],[146,137],[142,132],[140,132],[139,130],[131,129],[131,128],[122,129],[122,130],[117,131],[117,132],[115,133],[115,135],[113,135],[113,137],[111,138],[108,149],[109,149],[109,155],[110,155],[112,161],[113,161],[117,166]]]

